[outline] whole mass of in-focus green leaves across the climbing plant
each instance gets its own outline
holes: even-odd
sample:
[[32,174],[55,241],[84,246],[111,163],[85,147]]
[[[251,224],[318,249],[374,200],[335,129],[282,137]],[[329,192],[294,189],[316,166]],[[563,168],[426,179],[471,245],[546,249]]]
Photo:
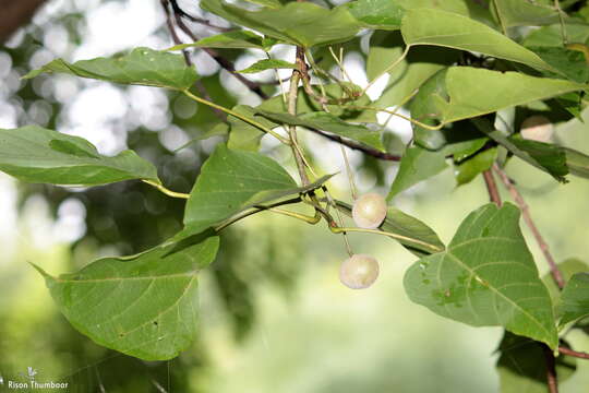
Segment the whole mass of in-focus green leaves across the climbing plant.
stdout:
[[[136,48],[75,63],[57,59],[25,76],[68,73],[164,87],[215,106],[192,93],[197,70],[172,51],[195,47],[268,52],[287,44],[299,47],[305,55],[302,60],[311,64],[308,71],[299,63],[268,58],[241,70],[297,70],[303,82],[296,92],[298,111],[289,111],[279,94],[256,107],[220,108],[229,115],[228,122],[205,136],[225,135],[226,143],[217,145],[190,194],[183,195],[188,199],[183,228],[176,236],[142,253],[94,261],[59,277],[37,267],[68,320],[95,342],[143,359],[177,356],[197,334],[197,276],[215,260],[218,233],[272,206],[316,203],[314,195],[329,176],[299,186],[277,162],[257,152],[264,134],[286,141],[276,132],[281,127],[338,138],[365,152],[388,153],[375,114],[406,106],[413,139],[405,148],[388,200],[438,174],[448,160],[458,184],[513,156],[558,181],[566,181],[568,174],[589,177],[589,156],[584,153],[519,135],[530,115],[542,114],[554,122],[580,118],[589,91],[585,2],[563,2],[568,14],[544,0],[495,0],[491,5],[466,0],[354,0],[332,9],[308,2],[251,2],[257,5],[201,1],[203,10],[248,31],[167,51]],[[521,35],[520,26],[541,27]],[[328,58],[330,46],[350,45],[366,31],[372,34],[369,80],[389,75],[374,102],[365,88],[329,75],[324,70],[327,60],[313,61]],[[308,72],[325,84],[312,84]],[[69,186],[140,179],[175,194],[164,188],[156,168],[132,151],[107,157],[83,139],[36,126],[0,130],[0,170],[25,181]],[[345,202],[327,203],[350,213]],[[420,258],[405,276],[411,300],[445,318],[509,332],[500,348],[500,369],[509,371],[518,369],[510,362],[529,361],[537,342],[556,349],[562,327],[589,314],[582,273],[589,267],[577,264],[564,290],[551,293],[539,277],[519,216],[508,203],[483,205],[465,218],[447,247],[425,224],[394,207],[380,228]],[[531,348],[529,343],[534,343]],[[527,379],[527,368],[520,369],[509,383]]]

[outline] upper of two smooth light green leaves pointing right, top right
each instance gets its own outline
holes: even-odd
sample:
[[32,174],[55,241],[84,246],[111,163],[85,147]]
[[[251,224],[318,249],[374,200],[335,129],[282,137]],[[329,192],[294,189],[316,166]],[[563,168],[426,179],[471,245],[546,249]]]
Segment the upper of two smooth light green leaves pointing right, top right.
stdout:
[[553,71],[538,55],[524,48],[483,23],[434,9],[416,9],[402,19],[407,45],[436,45],[485,53]]

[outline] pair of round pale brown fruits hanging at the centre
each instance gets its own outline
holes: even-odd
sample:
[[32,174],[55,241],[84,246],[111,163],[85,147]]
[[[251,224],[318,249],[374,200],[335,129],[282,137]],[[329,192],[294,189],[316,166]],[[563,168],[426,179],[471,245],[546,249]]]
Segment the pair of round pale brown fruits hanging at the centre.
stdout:
[[[376,229],[386,217],[386,202],[383,196],[368,193],[356,200],[352,218],[364,229]],[[378,262],[371,255],[353,254],[341,263],[339,281],[348,288],[364,289],[378,277]]]

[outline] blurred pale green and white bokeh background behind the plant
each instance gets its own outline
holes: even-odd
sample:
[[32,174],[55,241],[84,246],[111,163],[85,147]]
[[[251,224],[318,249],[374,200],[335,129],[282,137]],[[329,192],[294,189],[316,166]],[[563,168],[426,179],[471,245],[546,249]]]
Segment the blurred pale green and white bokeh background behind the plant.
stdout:
[[[180,3],[202,15],[197,2]],[[215,16],[205,16],[223,25]],[[190,28],[199,37],[214,33],[200,24]],[[345,63],[359,84],[365,83],[361,72],[365,39],[361,36],[345,46]],[[176,150],[219,122],[208,108],[148,87],[60,75],[20,80],[56,57],[79,60],[171,44],[159,1],[50,1],[0,47],[0,128],[37,123],[82,135],[101,153],[134,148],[157,165],[168,188],[189,192],[219,140]],[[280,46],[274,50],[290,53]],[[238,69],[261,57],[248,50],[223,56]],[[192,60],[216,103],[226,107],[260,103],[206,53],[194,52]],[[252,80],[267,94],[277,91],[275,84],[264,84],[274,80],[269,72]],[[589,114],[585,118],[589,120]],[[406,123],[389,123],[386,139],[393,141],[392,150],[398,148],[398,141],[407,141],[408,130]],[[323,171],[344,168],[337,145],[315,135],[304,138]],[[557,138],[589,152],[587,123],[562,123]],[[264,141],[263,151],[293,168],[288,151],[271,141]],[[396,164],[348,154],[360,190],[386,193]],[[570,178],[558,186],[517,158],[508,172],[554,255],[587,260],[589,182]],[[340,174],[332,188],[336,196],[350,200],[346,183]],[[481,179],[457,188],[446,170],[395,203],[447,242],[459,222],[486,201]],[[74,189],[17,183],[0,174],[0,377],[26,380],[32,367],[38,381],[67,381],[71,392],[497,391],[494,349],[501,330],[461,325],[410,303],[401,279],[413,257],[388,239],[351,237],[357,252],[375,255],[382,265],[372,288],[352,291],[338,281],[338,265],[346,258],[341,237],[268,213],[240,222],[223,234],[221,253],[203,274],[200,340],[166,362],[127,357],[79,334],[27,263],[58,274],[98,257],[144,250],[180,228],[182,211],[183,201],[137,181]],[[533,241],[529,245],[545,273],[539,250]],[[576,349],[589,350],[587,337],[574,333],[569,338]],[[578,366],[562,392],[587,392],[589,362]],[[0,385],[0,391],[5,389]]]

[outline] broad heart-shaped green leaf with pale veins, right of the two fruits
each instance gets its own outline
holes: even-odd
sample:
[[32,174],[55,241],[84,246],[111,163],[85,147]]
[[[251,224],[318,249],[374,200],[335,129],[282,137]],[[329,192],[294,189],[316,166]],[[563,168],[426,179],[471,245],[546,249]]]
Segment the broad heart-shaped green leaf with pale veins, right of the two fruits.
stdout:
[[442,317],[558,345],[550,294],[510,203],[470,213],[446,251],[416,262],[404,284],[413,302]]

